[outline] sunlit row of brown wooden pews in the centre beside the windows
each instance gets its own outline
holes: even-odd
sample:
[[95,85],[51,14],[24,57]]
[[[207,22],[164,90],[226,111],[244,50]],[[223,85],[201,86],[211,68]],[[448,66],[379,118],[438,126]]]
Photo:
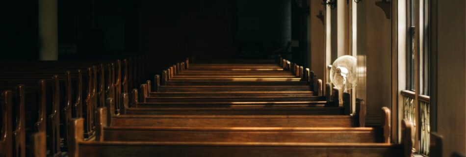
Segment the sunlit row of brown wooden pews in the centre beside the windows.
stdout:
[[411,123],[404,143],[392,144],[388,108],[382,128],[366,128],[362,100],[345,114],[313,90],[310,72],[290,65],[177,63],[123,93],[119,115],[107,99],[96,141],[82,140],[83,120],[74,119],[70,156],[411,156]]

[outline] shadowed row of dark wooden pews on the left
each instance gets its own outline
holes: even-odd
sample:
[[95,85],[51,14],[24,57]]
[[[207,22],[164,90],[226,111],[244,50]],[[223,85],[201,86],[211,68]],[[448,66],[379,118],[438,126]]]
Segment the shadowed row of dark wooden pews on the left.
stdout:
[[0,157],[66,155],[72,118],[85,119],[93,140],[96,108],[142,82],[143,60],[0,63]]

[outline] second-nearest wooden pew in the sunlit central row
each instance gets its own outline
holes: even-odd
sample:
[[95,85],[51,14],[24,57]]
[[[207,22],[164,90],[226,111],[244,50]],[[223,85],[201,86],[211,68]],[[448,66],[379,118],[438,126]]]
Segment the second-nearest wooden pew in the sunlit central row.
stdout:
[[[385,142],[376,128],[106,127],[107,108],[98,109],[98,139],[105,141],[179,142]],[[111,112],[110,112],[111,113]],[[388,112],[389,114],[389,112]],[[389,118],[389,115],[387,116]],[[111,121],[111,120],[110,120]],[[390,131],[389,124],[384,131]],[[100,132],[99,132],[100,131]],[[161,137],[159,137],[161,136]],[[144,139],[143,139],[144,138]],[[387,141],[388,142],[388,141]]]

